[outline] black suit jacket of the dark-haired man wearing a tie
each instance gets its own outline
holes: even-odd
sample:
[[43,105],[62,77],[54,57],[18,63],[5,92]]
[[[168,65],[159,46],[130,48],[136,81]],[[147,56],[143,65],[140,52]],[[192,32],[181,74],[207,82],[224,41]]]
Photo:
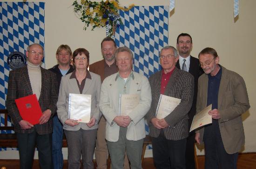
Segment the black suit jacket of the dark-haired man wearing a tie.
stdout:
[[[176,63],[176,67],[178,69],[181,69],[179,60]],[[199,66],[199,60],[197,58],[193,57],[193,56],[190,56],[189,73],[194,76],[194,98],[193,98],[193,104],[192,104],[191,109],[189,110],[189,113],[188,113],[188,115],[189,115],[189,129],[190,129],[190,126],[192,124],[192,121],[193,121],[193,118],[194,118],[195,112],[196,112],[196,98],[197,98],[198,78],[199,78],[200,75],[203,74],[203,70]]]

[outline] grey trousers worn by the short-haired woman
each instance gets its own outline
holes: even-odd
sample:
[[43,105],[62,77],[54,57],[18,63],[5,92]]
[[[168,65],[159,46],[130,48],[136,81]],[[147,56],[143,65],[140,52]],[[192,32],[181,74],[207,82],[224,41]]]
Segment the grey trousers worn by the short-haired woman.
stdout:
[[80,169],[80,159],[84,169],[94,169],[93,156],[97,129],[79,131],[64,130],[67,138],[68,169]]

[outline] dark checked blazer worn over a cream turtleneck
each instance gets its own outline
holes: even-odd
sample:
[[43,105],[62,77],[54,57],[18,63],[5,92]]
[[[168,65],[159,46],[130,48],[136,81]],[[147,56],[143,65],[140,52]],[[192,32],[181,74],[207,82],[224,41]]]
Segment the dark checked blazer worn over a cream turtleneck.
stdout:
[[[50,109],[53,116],[57,109],[56,102],[58,99],[56,75],[42,67],[40,67],[40,69],[42,84],[38,102],[42,112]],[[18,133],[32,133],[35,130],[38,134],[49,134],[53,132],[52,118],[50,118],[45,124],[34,125],[31,129],[21,129],[19,122],[22,118],[15,104],[15,99],[31,94],[33,94],[33,91],[29,80],[27,66],[10,71],[8,80],[7,110],[13,120],[14,131]]]

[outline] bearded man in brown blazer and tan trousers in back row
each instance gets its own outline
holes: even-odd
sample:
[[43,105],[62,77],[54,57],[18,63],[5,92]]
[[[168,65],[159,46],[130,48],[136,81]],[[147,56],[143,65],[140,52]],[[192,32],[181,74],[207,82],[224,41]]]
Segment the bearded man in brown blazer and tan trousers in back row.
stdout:
[[[115,40],[110,37],[104,38],[101,41],[101,54],[104,59],[89,66],[91,72],[101,76],[101,82],[109,75],[113,75],[118,71],[114,56],[115,50]],[[107,169],[108,147],[105,140],[105,135],[106,119],[104,116],[102,116],[98,126],[96,149],[94,151],[97,162],[97,169]],[[124,169],[129,169],[127,156],[125,156]]]

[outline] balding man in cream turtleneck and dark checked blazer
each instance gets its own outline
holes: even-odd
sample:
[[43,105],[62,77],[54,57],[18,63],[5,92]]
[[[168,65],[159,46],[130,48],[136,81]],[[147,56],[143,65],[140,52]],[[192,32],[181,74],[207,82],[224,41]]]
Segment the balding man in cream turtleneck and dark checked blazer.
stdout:
[[[18,138],[20,169],[32,169],[35,145],[40,168],[52,169],[52,117],[58,100],[56,75],[40,67],[44,56],[40,44],[29,45],[26,56],[27,66],[10,71],[7,93],[7,110]],[[36,94],[43,112],[36,125],[22,119],[15,104],[15,99],[31,94]]]

